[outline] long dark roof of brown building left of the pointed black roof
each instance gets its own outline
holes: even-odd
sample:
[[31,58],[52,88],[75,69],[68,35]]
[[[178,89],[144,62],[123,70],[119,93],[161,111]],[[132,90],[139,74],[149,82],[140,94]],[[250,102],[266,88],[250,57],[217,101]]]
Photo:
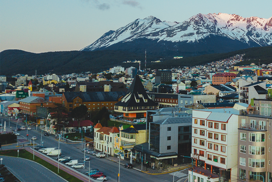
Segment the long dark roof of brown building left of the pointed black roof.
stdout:
[[64,92],[67,102],[73,102],[79,97],[83,102],[115,102],[118,98],[125,96],[125,92]]

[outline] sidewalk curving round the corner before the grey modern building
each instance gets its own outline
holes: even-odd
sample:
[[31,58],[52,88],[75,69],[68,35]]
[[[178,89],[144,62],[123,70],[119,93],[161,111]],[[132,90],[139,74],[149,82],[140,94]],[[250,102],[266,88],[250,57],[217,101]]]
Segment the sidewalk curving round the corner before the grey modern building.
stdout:
[[[119,163],[119,158],[116,158],[116,157],[113,157],[113,156],[109,156],[106,159],[108,159],[109,161],[113,161],[115,163]],[[125,161],[123,159],[120,160],[120,165],[124,166],[126,163],[130,163],[130,162]],[[133,163],[133,169],[134,170],[140,171],[140,172],[148,174],[148,175],[162,175],[162,174],[167,174],[167,173],[172,173],[172,172],[176,172],[176,171],[179,171],[179,170],[183,170],[183,169],[186,169],[186,168],[189,168],[189,167],[191,167],[191,165],[184,164],[184,165],[181,165],[181,166],[179,166],[177,168],[158,171],[156,169],[151,169],[150,167],[146,169],[145,165],[143,165],[142,170],[141,170],[141,165]]]

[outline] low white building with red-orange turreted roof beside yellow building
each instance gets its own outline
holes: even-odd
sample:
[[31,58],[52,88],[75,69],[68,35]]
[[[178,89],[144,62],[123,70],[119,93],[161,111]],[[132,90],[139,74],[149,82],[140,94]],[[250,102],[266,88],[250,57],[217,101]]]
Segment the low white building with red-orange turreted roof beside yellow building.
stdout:
[[114,156],[114,139],[119,134],[117,127],[102,127],[100,123],[94,127],[94,147],[96,150]]

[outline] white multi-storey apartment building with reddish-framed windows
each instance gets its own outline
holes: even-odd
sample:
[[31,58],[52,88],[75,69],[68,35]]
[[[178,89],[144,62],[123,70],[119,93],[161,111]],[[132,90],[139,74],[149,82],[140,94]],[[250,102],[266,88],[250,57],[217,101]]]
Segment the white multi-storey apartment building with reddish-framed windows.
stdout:
[[[193,181],[218,182],[219,174],[225,180],[237,179],[238,115],[233,108],[193,110]],[[188,175],[191,182],[191,170]]]

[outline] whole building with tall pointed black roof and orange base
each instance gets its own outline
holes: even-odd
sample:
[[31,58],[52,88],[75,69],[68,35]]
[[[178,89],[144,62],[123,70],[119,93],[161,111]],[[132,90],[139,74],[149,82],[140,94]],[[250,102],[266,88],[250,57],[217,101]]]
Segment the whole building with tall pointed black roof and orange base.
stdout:
[[115,104],[114,111],[124,114],[124,119],[145,118],[147,110],[157,109],[158,104],[146,94],[138,75],[135,76],[127,95]]

